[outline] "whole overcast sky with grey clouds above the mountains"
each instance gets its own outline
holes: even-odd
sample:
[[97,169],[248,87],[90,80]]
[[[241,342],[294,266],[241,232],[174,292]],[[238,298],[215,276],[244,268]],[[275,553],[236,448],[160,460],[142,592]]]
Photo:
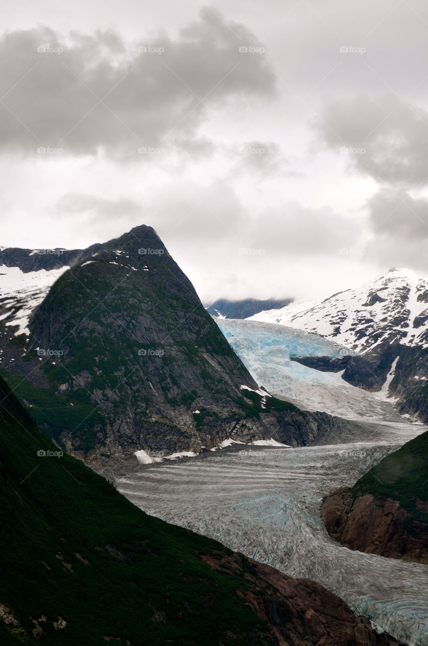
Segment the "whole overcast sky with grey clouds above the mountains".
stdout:
[[424,0],[5,0],[3,246],[152,225],[204,302],[428,273]]

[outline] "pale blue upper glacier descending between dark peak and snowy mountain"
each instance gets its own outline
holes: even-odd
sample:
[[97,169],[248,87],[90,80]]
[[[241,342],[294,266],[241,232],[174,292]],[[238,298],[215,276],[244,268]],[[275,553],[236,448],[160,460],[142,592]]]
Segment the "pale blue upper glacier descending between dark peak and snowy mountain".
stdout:
[[341,373],[321,372],[290,357],[343,357],[351,350],[329,339],[274,323],[215,318],[252,377],[272,395],[300,408],[347,419],[399,421],[382,391],[379,395],[351,386]]

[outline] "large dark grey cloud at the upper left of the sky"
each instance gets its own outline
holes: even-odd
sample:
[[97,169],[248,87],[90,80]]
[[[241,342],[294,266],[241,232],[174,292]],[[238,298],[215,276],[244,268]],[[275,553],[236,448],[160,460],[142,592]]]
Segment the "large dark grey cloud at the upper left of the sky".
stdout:
[[66,41],[47,28],[8,32],[0,41],[0,145],[135,156],[191,149],[201,120],[221,103],[239,111],[244,97],[275,92],[263,52],[251,48],[261,43],[244,25],[209,8],[176,40],[142,38],[132,48],[112,32]]

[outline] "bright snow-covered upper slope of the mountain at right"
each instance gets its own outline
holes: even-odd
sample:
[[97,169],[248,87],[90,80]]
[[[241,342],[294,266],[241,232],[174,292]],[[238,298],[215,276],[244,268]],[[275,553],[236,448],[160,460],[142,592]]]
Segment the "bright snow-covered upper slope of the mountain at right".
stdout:
[[288,306],[251,318],[316,333],[361,353],[394,342],[428,348],[428,278],[394,269],[298,312]]

